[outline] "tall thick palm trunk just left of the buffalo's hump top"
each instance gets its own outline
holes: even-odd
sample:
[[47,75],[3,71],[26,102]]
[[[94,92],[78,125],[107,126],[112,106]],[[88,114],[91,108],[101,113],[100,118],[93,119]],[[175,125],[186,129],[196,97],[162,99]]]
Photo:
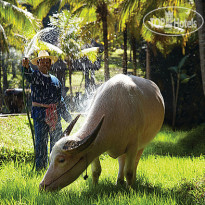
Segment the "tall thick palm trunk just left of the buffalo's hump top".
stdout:
[[108,31],[107,31],[107,5],[101,5],[101,18],[103,22],[103,41],[104,41],[104,76],[105,81],[110,79],[109,59],[108,59]]

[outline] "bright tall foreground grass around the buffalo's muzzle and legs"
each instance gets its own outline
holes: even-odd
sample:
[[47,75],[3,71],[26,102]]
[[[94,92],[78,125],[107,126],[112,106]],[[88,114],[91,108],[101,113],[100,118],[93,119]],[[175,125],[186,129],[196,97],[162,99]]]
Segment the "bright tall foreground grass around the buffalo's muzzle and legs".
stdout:
[[39,192],[45,172],[36,173],[30,164],[9,163],[0,170],[2,204],[195,204],[203,202],[204,157],[172,158],[148,156],[140,160],[132,189],[116,186],[118,164],[109,157],[101,160],[102,175],[97,186],[80,176],[57,192]]

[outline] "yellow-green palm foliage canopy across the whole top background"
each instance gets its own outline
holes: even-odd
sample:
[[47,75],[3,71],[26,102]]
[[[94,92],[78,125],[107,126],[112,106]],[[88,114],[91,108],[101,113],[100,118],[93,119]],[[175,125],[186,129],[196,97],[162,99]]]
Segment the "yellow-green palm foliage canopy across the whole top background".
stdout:
[[[177,12],[175,6],[189,10]],[[196,33],[190,34],[189,28],[186,30],[187,35],[179,37],[157,35],[147,29],[143,23],[144,17],[150,11],[161,7],[170,7],[169,11],[173,12],[174,17],[181,19],[191,19],[193,13],[190,11],[192,10],[197,9],[202,16],[204,12],[204,4],[201,0],[196,0],[196,2],[193,0],[0,0],[1,66],[7,65],[6,58],[8,55],[3,53],[14,47],[23,51],[24,55],[36,55],[36,51],[39,49],[49,50],[51,54],[59,55],[63,60],[66,60],[68,67],[71,68],[72,61],[82,57],[82,55],[87,55],[91,61],[95,61],[97,50],[82,52],[83,45],[94,40],[103,45],[105,81],[110,78],[110,52],[119,47],[124,49],[121,59],[124,69],[122,72],[128,72],[127,64],[130,60],[134,75],[139,75],[140,67],[146,67],[146,69],[143,68],[143,71],[146,71],[146,77],[150,78],[151,73],[154,72],[151,65],[152,55],[162,54],[166,58],[179,46],[182,49],[182,54],[185,55],[187,54],[188,42],[194,42],[194,45],[196,45],[198,41]],[[156,19],[163,15],[162,12],[158,12],[151,17]],[[50,17],[50,24],[46,25],[49,25],[49,28],[44,28],[45,17],[48,16]],[[156,24],[153,24],[152,26],[162,34],[167,34],[167,28],[164,25],[157,27]],[[58,39],[54,44],[42,41],[41,36],[45,30],[47,32],[56,31]],[[201,75],[205,90],[204,35],[202,31],[203,29],[199,30],[198,34]],[[172,32],[175,32],[175,30]],[[130,49],[130,56],[127,54],[128,49]],[[144,51],[146,51],[146,57],[142,57],[141,60],[141,53]],[[6,66],[1,69],[2,72],[3,84],[5,84],[3,89],[5,89],[8,87]],[[1,73],[0,77],[2,76]],[[193,73],[189,74],[189,76],[192,75]],[[71,81],[71,74],[69,79]],[[175,85],[175,87],[177,86]],[[2,93],[2,88],[0,90],[0,93]]]

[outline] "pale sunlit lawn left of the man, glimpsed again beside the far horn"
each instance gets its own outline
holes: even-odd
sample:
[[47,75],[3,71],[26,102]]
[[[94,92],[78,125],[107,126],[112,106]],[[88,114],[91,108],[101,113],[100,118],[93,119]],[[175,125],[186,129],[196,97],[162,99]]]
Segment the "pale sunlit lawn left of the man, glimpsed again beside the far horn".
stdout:
[[[82,123],[84,117],[79,119]],[[62,119],[63,130],[68,124]],[[77,131],[74,127],[73,132]],[[33,141],[26,115],[0,117],[0,163],[4,160],[31,160]]]

